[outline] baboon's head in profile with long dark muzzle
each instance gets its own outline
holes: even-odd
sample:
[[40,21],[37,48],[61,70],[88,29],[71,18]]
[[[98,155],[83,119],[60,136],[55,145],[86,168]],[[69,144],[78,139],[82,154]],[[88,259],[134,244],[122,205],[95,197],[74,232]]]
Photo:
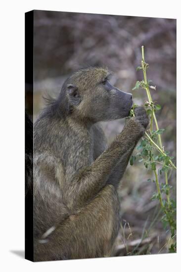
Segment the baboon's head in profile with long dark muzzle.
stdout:
[[69,111],[94,123],[128,116],[132,94],[114,87],[109,76],[110,72],[103,68],[81,69],[70,76],[61,91]]

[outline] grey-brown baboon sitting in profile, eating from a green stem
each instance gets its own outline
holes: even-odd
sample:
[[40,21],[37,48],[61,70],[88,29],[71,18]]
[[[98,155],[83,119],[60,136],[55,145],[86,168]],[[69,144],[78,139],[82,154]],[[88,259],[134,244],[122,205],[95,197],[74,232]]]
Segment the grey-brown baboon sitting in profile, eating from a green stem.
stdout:
[[148,118],[137,107],[107,147],[97,122],[127,117],[133,104],[109,74],[75,72],[34,125],[34,261],[111,255],[120,220],[117,188]]

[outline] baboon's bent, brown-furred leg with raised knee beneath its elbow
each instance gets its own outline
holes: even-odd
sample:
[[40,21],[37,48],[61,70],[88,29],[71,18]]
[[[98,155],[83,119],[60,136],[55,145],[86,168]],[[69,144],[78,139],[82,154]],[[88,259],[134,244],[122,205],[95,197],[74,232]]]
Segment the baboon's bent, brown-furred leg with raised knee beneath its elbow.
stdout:
[[119,230],[118,209],[116,190],[106,185],[80,212],[56,226],[47,242],[36,242],[35,261],[108,256]]

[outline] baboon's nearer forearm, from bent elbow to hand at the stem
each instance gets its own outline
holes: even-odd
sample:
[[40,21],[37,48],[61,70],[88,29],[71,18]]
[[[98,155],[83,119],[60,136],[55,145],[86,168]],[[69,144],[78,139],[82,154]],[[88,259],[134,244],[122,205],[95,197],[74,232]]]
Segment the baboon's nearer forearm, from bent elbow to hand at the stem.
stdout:
[[[64,200],[70,209],[84,207],[97,194],[107,182],[117,162],[128,150],[134,148],[144,131],[139,121],[134,118],[129,120],[122,133],[111,145],[90,166],[83,168],[73,176],[64,191]],[[123,169],[125,168],[126,165]]]

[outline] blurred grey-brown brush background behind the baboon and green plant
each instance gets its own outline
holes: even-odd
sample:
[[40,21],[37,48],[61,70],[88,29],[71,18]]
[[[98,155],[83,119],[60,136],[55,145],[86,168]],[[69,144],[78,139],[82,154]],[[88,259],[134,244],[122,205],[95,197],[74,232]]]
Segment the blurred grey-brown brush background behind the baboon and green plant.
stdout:
[[[154,101],[162,106],[157,113],[165,149],[176,160],[176,20],[55,11],[34,12],[34,121],[45,106],[43,96],[56,97],[64,80],[86,66],[107,66],[111,82],[122,91],[132,92],[136,104],[147,100],[144,90],[132,91],[142,71],[141,45],[149,63],[147,78],[152,80]],[[28,96],[27,96],[28,99]],[[28,101],[27,101],[28,105]],[[31,106],[27,108],[33,114]],[[121,132],[125,120],[102,122],[110,143]],[[136,153],[136,150],[134,151]],[[155,183],[142,163],[128,166],[122,180],[121,228],[114,255],[166,253],[169,233],[160,222],[157,200],[150,198]],[[163,177],[164,178],[164,177]],[[164,182],[160,181],[160,182]],[[176,195],[176,174],[171,173],[172,197]]]

